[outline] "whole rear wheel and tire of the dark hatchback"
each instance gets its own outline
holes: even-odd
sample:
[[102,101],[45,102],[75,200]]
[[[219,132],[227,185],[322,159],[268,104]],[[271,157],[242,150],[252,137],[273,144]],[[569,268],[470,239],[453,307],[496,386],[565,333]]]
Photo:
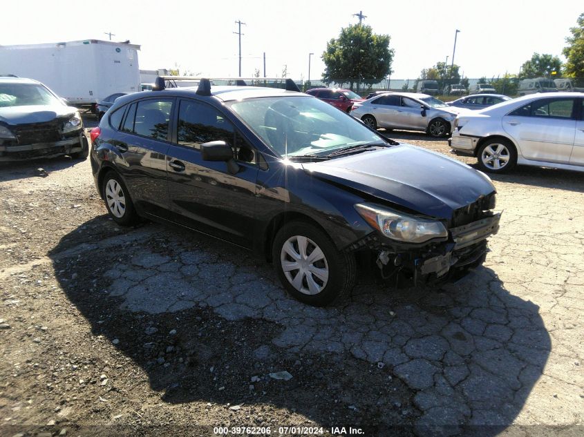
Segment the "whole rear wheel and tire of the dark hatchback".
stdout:
[[114,171],[104,177],[102,196],[110,217],[122,226],[131,226],[138,222],[138,214],[130,197],[126,184]]

